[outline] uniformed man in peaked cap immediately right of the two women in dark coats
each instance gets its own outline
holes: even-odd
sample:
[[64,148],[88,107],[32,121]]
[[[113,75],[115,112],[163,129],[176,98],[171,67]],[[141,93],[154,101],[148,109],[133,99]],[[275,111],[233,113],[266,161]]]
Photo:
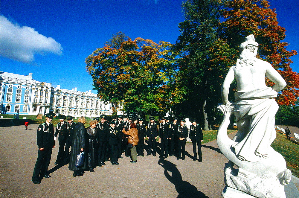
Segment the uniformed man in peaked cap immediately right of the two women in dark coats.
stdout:
[[109,125],[106,122],[107,116],[100,115],[101,121],[99,122],[99,128],[97,131],[97,138],[99,140],[99,150],[98,150],[98,166],[103,166],[105,164],[105,152],[107,147],[107,131]]

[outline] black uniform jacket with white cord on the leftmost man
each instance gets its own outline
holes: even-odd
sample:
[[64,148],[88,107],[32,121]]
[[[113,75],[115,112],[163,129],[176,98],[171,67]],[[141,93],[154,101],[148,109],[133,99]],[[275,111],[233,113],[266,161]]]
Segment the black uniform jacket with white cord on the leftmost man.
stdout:
[[39,125],[37,128],[36,142],[38,148],[53,148],[54,141],[54,126],[50,123],[50,126],[46,122]]

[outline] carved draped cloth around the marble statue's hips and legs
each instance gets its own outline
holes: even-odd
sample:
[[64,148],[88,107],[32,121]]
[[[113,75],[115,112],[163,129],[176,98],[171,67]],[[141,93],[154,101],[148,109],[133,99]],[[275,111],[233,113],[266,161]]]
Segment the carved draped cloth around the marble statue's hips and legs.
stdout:
[[278,109],[274,100],[276,96],[277,92],[271,87],[235,93],[236,121],[247,122],[245,127],[249,128],[246,130],[248,133],[244,134],[246,136],[232,145],[240,160],[258,162],[261,157],[269,157],[268,149],[276,138],[274,129],[274,116]]

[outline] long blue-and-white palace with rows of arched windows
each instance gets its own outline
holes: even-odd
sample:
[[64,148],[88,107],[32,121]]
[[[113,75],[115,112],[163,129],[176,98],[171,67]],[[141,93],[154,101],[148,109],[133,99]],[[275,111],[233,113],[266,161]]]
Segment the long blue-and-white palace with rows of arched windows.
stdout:
[[[112,106],[97,94],[61,89],[51,83],[39,82],[29,75],[0,71],[1,114],[37,115],[55,113],[73,116],[97,117],[112,115]],[[121,112],[119,112],[121,113]]]

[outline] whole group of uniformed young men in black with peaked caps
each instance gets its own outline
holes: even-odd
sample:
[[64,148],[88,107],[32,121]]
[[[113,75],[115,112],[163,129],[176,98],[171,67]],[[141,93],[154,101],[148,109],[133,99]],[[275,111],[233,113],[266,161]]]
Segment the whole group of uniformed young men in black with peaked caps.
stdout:
[[[45,123],[39,125],[37,130],[37,145],[39,147],[36,165],[34,167],[32,181],[35,184],[41,183],[42,177],[51,177],[48,173],[48,166],[51,160],[52,149],[55,147],[55,140],[58,138],[59,151],[55,165],[67,164],[69,162],[69,149],[73,140],[73,133],[76,123],[73,122],[74,117],[68,115],[58,115],[60,122],[57,124],[56,132],[54,134],[54,127],[51,124],[54,113],[46,115]],[[67,122],[65,119],[67,118]],[[172,119],[172,122],[170,122]],[[176,117],[166,118],[159,117],[159,123],[155,123],[154,117],[149,117],[149,123],[144,124],[143,118],[134,116],[118,115],[112,117],[112,121],[108,121],[107,115],[100,115],[94,118],[97,121],[97,159],[98,166],[105,165],[105,162],[111,159],[112,165],[119,165],[118,158],[123,158],[123,151],[125,156],[130,156],[130,149],[128,149],[128,135],[125,135],[122,130],[128,131],[131,122],[136,123],[138,130],[138,145],[137,156],[144,156],[144,141],[148,138],[147,156],[156,156],[157,138],[160,139],[160,157],[167,158],[168,156],[177,156],[177,159],[185,160],[185,145],[188,137],[188,128],[184,124],[184,118]],[[193,144],[193,160],[197,159],[196,144],[198,145],[199,162],[202,162],[201,141],[203,139],[202,129],[196,120],[190,120],[190,141]],[[137,123],[138,122],[138,123]],[[112,134],[112,135],[111,135]],[[53,138],[54,137],[54,138]],[[132,161],[131,161],[132,162]],[[135,161],[134,161],[135,162]],[[90,170],[94,172],[93,168]]]

